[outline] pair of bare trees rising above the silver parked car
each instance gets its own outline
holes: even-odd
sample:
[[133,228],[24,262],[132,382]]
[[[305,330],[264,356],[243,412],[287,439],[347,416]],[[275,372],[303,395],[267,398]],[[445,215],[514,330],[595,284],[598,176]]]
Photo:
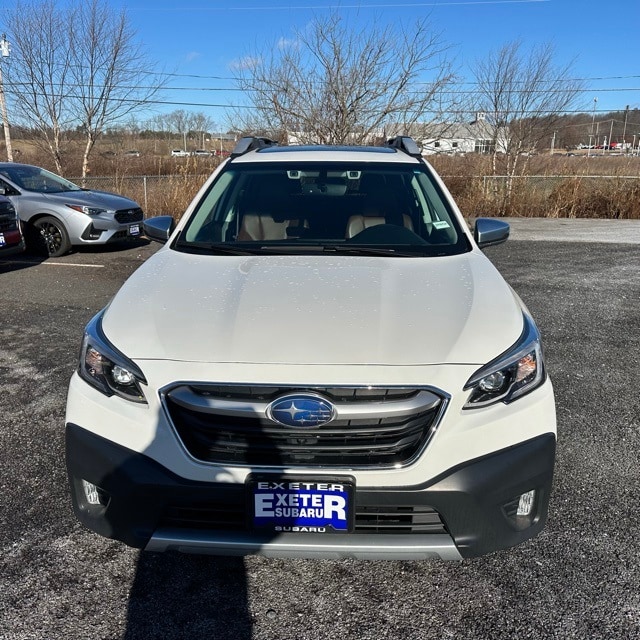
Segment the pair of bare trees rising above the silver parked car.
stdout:
[[39,134],[59,171],[64,130],[81,131],[84,177],[102,131],[139,112],[164,80],[153,73],[127,14],[107,0],[19,3],[7,20],[15,113]]

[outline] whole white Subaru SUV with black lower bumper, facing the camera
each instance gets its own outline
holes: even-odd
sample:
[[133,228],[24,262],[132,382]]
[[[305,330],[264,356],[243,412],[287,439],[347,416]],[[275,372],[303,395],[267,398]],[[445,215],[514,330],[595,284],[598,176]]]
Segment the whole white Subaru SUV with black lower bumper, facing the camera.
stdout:
[[[78,518],[152,551],[460,559],[543,527],[540,337],[410,138],[242,139],[87,326]],[[474,237],[475,236],[475,237]]]

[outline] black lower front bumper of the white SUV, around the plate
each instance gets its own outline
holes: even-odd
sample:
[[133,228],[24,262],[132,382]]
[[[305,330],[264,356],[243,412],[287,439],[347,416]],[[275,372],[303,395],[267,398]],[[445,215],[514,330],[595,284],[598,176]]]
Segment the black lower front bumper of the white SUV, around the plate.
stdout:
[[[89,529],[150,551],[277,557],[452,560],[517,545],[544,527],[555,446],[555,435],[548,433],[419,486],[357,485],[356,520],[359,512],[392,513],[375,531],[356,526],[351,534],[266,536],[246,526],[244,484],[187,480],[80,426],[68,423],[66,430],[73,507]],[[100,488],[99,504],[89,504],[83,480]],[[516,516],[514,500],[531,490],[531,513]],[[412,522],[427,521],[433,526],[412,528]]]

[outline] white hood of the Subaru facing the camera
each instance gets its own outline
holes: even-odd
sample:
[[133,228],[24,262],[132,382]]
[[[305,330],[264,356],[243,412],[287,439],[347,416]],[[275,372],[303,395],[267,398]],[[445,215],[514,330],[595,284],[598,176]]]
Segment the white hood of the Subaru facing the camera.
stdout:
[[229,257],[166,248],[103,318],[130,358],[211,363],[484,364],[522,328],[517,298],[479,251]]

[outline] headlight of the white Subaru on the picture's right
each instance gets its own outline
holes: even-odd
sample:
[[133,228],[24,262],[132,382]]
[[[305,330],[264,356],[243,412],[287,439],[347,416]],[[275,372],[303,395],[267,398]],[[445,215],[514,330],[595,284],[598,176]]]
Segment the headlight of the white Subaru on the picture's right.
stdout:
[[467,384],[471,390],[464,409],[508,404],[533,391],[545,381],[540,334],[533,320],[523,314],[524,330],[518,342],[501,356],[478,369]]

